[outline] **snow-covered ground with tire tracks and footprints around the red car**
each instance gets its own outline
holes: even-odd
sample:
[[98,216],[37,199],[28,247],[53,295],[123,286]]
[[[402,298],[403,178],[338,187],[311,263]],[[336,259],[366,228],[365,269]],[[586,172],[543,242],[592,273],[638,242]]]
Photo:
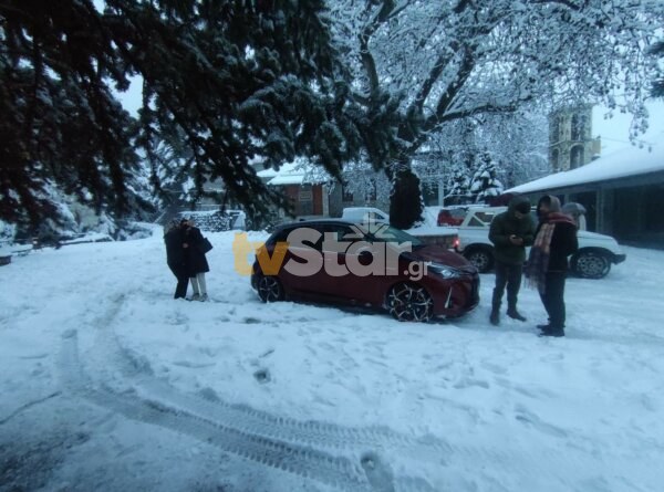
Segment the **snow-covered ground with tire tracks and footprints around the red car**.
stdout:
[[208,303],[160,230],[0,268],[0,490],[662,490],[663,251],[570,279],[551,339],[526,287],[489,325],[491,274],[454,322],[261,304],[207,235]]

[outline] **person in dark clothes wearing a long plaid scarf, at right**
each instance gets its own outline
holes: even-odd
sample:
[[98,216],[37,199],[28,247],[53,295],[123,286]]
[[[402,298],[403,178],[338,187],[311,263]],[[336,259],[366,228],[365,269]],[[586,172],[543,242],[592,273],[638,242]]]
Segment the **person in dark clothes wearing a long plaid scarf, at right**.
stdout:
[[564,336],[564,281],[568,257],[579,249],[574,220],[560,212],[560,200],[547,195],[537,206],[540,222],[530,250],[526,276],[537,286],[549,323],[538,325],[540,336]]

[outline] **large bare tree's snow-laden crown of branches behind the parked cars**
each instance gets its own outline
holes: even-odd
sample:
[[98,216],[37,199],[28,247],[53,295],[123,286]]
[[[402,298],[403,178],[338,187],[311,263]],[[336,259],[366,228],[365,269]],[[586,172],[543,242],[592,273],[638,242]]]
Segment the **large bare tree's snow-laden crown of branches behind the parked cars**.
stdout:
[[616,105],[620,94],[641,117],[655,69],[643,54],[664,19],[658,0],[329,4],[356,75],[353,96],[382,126],[371,158],[388,170],[403,170],[432,133],[480,114],[561,101]]

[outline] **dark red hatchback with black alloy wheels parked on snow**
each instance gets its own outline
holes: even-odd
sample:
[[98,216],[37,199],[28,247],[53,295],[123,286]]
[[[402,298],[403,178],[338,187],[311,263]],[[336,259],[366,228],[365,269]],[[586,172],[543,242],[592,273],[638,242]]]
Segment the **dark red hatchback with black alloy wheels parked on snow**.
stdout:
[[479,302],[477,269],[460,254],[344,219],[281,226],[257,251],[251,286],[263,302],[372,306],[400,321],[456,317]]

